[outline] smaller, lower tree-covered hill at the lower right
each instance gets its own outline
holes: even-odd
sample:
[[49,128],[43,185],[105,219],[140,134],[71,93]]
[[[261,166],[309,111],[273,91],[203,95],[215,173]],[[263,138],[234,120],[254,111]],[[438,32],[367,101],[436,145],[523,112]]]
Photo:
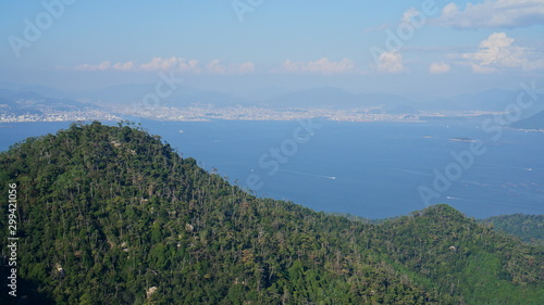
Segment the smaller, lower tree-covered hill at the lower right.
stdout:
[[[409,270],[425,275],[442,291],[467,304],[539,304],[544,275],[542,247],[466,218],[448,205],[383,224],[388,254]],[[524,290],[534,284],[535,290]],[[539,301],[540,300],[540,301]]]

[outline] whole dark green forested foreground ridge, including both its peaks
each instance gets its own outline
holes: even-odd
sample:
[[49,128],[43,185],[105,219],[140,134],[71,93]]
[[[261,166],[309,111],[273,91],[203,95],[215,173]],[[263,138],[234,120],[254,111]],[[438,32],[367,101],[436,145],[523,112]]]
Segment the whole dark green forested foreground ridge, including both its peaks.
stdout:
[[544,304],[543,250],[447,205],[372,225],[257,199],[134,126],[27,139],[0,177],[1,304]]

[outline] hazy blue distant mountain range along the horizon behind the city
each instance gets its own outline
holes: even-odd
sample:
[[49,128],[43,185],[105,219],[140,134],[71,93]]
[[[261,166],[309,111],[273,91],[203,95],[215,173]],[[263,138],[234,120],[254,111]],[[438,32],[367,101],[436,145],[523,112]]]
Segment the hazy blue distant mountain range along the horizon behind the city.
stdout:
[[[154,84],[133,84],[113,86],[98,90],[62,92],[45,86],[21,86],[0,84],[0,103],[9,104],[16,94],[34,97],[49,104],[66,104],[72,106],[131,104],[139,102],[148,93],[156,91]],[[177,86],[166,98],[161,100],[164,106],[184,107],[194,104],[212,104],[214,106],[260,106],[272,109],[285,107],[331,107],[357,109],[379,107],[385,113],[417,113],[419,111],[491,111],[503,112],[507,105],[516,102],[518,91],[491,89],[481,92],[466,93],[431,102],[415,101],[400,96],[380,92],[350,92],[335,87],[318,87],[304,90],[285,88],[256,89],[252,93],[240,97],[231,93]],[[544,99],[544,94],[540,94]],[[85,103],[81,103],[85,102]],[[544,106],[524,110],[523,117],[543,111]]]

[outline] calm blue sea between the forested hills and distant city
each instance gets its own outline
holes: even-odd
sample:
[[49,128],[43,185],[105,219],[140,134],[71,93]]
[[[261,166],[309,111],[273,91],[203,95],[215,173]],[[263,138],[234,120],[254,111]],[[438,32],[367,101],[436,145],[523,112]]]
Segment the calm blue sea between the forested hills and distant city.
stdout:
[[[314,211],[378,219],[446,203],[474,218],[544,214],[543,132],[482,119],[138,123],[232,183]],[[0,150],[70,124],[0,124]]]

